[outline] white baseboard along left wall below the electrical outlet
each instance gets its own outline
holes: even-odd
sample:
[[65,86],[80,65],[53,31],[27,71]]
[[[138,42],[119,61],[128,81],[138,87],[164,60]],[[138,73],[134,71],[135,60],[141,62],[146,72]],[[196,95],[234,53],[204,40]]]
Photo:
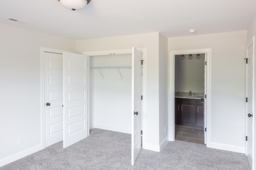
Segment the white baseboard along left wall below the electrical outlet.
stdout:
[[15,160],[18,160],[20,158],[23,158],[25,156],[28,156],[28,155],[30,155],[30,154],[32,154],[34,152],[39,151],[39,150],[42,150],[42,145],[41,144],[40,145],[36,145],[36,146],[34,146],[32,148],[29,148],[29,149],[26,149],[26,150],[22,150],[21,152],[18,152],[16,154],[13,154],[13,155],[8,156],[6,158],[3,158],[3,159],[0,160],[0,167],[4,166],[6,164],[9,164],[9,163],[11,163],[11,162],[13,162]]

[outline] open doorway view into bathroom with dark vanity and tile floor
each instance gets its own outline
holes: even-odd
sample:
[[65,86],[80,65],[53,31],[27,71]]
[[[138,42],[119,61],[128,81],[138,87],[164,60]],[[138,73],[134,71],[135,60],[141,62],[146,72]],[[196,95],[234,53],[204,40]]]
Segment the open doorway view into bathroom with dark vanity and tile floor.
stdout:
[[204,144],[205,54],[174,55],[175,140]]

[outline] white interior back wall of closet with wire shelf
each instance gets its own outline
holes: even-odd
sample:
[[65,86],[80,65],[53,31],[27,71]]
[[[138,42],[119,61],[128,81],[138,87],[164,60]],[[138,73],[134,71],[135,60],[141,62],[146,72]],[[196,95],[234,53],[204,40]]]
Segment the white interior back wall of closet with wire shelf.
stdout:
[[100,128],[131,133],[132,54],[90,57],[90,129]]

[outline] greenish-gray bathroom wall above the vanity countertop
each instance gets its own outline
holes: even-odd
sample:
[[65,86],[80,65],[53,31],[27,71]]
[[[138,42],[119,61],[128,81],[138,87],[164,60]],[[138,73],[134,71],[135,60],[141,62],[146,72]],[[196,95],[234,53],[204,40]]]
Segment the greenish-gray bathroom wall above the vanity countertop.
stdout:
[[182,60],[181,55],[175,55],[175,92],[204,93],[204,54],[201,59],[189,60],[188,55]]

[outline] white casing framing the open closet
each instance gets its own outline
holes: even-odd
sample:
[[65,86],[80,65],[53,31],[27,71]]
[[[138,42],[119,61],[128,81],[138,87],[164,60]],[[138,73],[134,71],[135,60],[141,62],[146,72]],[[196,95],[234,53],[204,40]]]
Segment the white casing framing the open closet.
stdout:
[[[143,61],[143,67],[142,67],[142,129],[144,133],[142,134],[142,148],[146,146],[146,48],[136,48],[142,52],[142,59]],[[104,51],[85,51],[83,52],[84,55],[88,55],[88,63],[90,62],[90,56],[96,56],[96,55],[113,55],[113,54],[132,54],[132,47],[130,49],[114,49],[114,50],[104,50]],[[90,66],[88,66],[88,69],[90,69]],[[90,74],[89,74],[90,75]],[[90,82],[89,82],[89,76],[88,76],[88,110],[90,111]],[[88,112],[88,115],[90,113]],[[88,118],[89,119],[89,118]],[[90,130],[90,125],[88,123],[88,131]],[[131,126],[132,127],[132,126]],[[131,131],[132,133],[132,131]],[[88,133],[89,134],[89,133]]]

